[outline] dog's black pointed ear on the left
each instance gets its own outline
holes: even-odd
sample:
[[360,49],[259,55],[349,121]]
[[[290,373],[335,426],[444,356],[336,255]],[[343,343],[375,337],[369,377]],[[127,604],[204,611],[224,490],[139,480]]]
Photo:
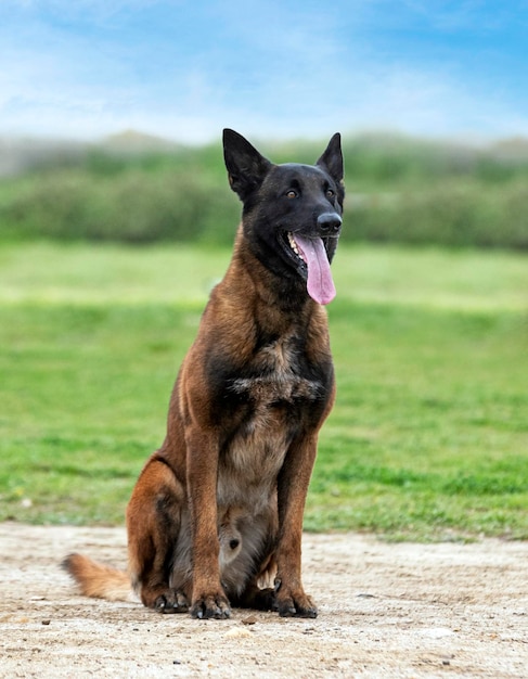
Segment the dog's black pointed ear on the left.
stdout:
[[228,128],[223,130],[223,158],[231,189],[242,201],[262,183],[272,167],[247,139]]

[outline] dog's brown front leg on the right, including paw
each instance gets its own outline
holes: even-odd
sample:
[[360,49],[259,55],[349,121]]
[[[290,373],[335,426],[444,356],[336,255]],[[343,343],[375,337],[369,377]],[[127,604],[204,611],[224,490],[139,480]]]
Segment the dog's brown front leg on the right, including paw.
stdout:
[[281,616],[317,617],[301,581],[301,538],[308,484],[317,454],[317,435],[292,446],[279,476],[279,543],[275,607]]

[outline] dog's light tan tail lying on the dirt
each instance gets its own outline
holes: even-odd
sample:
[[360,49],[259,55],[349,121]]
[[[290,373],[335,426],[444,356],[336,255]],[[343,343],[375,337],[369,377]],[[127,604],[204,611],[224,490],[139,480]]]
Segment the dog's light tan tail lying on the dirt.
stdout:
[[106,601],[137,601],[125,571],[92,561],[83,554],[69,554],[62,566],[76,580],[85,597]]

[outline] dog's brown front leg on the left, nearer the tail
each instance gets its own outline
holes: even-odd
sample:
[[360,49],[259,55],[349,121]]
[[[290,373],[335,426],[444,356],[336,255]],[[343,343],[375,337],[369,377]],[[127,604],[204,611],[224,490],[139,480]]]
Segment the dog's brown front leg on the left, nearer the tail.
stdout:
[[231,615],[231,608],[220,584],[218,563],[218,445],[215,436],[197,425],[190,427],[185,439],[193,562],[191,615],[227,618]]

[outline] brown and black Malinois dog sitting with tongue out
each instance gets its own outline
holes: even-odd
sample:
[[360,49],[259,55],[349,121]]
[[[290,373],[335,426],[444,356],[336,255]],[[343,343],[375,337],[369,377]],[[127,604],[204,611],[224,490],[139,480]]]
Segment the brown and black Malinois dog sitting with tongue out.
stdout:
[[127,508],[128,574],[70,554],[83,594],[162,613],[317,617],[301,582],[305,501],[335,398],[324,305],[342,231],[340,136],[315,165],[275,165],[223,130],[243,204],[231,262],[180,368],[162,447]]

